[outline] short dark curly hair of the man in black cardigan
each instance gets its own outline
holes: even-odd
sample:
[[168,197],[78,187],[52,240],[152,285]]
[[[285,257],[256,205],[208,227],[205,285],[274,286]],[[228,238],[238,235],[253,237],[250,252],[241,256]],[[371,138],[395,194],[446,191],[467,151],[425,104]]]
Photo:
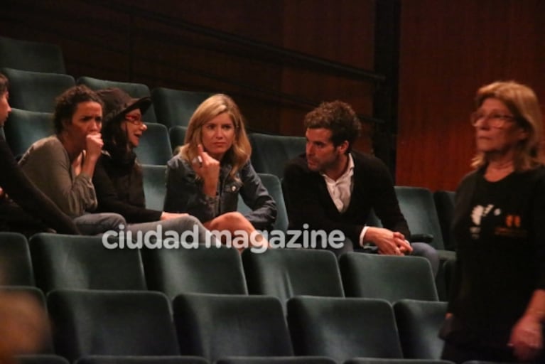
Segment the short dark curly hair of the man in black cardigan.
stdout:
[[348,141],[347,153],[352,150],[352,144],[360,136],[362,130],[360,119],[346,102],[339,100],[322,102],[318,107],[306,114],[304,119],[306,129],[329,129],[334,146]]

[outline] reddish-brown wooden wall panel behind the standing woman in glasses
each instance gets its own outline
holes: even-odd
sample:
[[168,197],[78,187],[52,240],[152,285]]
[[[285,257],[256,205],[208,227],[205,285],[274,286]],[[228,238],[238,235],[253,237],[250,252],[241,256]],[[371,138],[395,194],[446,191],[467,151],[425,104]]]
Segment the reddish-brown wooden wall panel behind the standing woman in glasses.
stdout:
[[481,85],[517,80],[544,105],[544,23],[541,0],[402,1],[397,184],[452,190],[470,171]]

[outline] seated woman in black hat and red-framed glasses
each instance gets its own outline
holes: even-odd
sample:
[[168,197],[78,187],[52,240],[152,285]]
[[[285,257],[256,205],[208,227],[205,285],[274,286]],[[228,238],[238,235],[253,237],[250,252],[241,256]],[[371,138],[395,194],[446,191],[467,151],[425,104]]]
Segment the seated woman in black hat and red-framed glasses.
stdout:
[[99,90],[97,94],[104,102],[104,149],[92,178],[97,193],[97,211],[122,215],[129,223],[126,230],[133,232],[133,236],[135,232],[156,230],[161,225],[163,232],[171,230],[179,235],[195,228],[198,232],[195,238],[199,242],[212,241],[210,232],[197,218],[187,213],[146,208],[142,167],[134,149],[148,129],[142,114],[151,105],[151,99],[134,99],[119,88]]

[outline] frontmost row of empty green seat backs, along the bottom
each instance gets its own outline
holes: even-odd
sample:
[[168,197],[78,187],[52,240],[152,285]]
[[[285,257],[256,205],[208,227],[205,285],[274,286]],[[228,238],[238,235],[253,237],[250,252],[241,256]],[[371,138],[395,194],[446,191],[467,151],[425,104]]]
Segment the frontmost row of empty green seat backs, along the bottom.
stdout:
[[[438,359],[446,303],[295,296],[287,315],[272,296],[58,289],[46,298],[52,330],[42,353],[87,355]],[[334,363],[334,362],[333,362]]]

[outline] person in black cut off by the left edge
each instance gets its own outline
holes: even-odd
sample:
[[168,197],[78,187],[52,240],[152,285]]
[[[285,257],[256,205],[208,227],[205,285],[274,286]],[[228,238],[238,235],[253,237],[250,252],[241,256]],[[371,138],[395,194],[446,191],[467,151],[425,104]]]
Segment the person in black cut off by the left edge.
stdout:
[[[9,81],[0,73],[0,127],[11,112],[8,87]],[[79,234],[72,220],[26,178],[0,136],[0,231],[30,236],[51,230]]]

